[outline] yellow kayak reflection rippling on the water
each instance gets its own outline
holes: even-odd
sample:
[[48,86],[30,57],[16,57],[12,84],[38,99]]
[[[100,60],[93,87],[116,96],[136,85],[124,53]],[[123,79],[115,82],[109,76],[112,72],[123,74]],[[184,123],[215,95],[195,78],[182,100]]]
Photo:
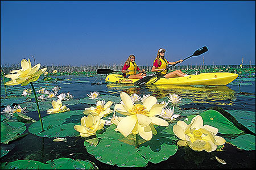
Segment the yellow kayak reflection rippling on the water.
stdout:
[[217,105],[233,105],[236,101],[236,91],[227,86],[175,86],[175,85],[148,85],[133,86],[131,84],[108,84],[110,90],[124,91],[127,94],[155,96],[157,99],[166,99],[169,94],[178,94],[183,98],[191,99],[196,103]]

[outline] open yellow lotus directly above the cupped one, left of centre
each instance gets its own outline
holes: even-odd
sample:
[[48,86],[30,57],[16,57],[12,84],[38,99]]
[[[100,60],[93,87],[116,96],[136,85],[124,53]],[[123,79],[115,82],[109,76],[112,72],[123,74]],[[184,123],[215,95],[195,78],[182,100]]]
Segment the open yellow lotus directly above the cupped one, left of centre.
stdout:
[[84,114],[88,115],[88,114],[92,114],[92,116],[99,116],[99,117],[105,117],[108,116],[108,114],[112,113],[113,111],[110,109],[110,107],[112,106],[113,102],[112,101],[108,101],[105,104],[105,101],[97,101],[96,103],[96,108],[94,107],[90,107],[90,108],[85,108],[84,109]]

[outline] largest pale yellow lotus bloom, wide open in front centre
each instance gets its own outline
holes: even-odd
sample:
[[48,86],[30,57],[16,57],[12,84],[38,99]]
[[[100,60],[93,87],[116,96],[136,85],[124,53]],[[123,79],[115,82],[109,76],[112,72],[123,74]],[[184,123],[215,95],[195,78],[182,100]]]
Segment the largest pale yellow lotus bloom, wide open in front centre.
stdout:
[[123,104],[116,104],[114,111],[126,116],[117,125],[117,130],[123,136],[139,134],[143,139],[150,141],[152,134],[157,133],[153,125],[168,126],[167,121],[156,117],[164,107],[163,104],[156,103],[156,97],[149,96],[142,104],[134,104],[125,92],[121,92],[120,97]]

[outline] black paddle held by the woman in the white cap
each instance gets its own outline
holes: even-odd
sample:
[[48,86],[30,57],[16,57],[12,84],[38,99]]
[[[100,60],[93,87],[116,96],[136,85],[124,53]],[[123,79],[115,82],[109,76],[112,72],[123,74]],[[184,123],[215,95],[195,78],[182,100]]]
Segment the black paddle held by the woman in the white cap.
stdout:
[[[200,49],[197,49],[191,56],[189,56],[187,58],[184,58],[183,61],[185,61],[186,59],[188,59],[188,58],[190,58],[192,56],[200,56],[201,54],[203,54],[203,53],[205,53],[207,51],[208,51],[207,46],[204,46],[204,47],[202,47]],[[177,62],[177,63],[180,63],[180,62]],[[170,67],[175,66],[176,64],[168,66],[167,69],[170,69]],[[154,75],[146,76],[146,77],[144,77],[142,79],[139,79],[136,82],[134,82],[134,85],[142,86],[142,85],[146,84],[147,82],[149,82],[152,78],[155,78],[156,76],[160,75],[161,72],[162,71],[159,71],[158,73],[156,73]]]

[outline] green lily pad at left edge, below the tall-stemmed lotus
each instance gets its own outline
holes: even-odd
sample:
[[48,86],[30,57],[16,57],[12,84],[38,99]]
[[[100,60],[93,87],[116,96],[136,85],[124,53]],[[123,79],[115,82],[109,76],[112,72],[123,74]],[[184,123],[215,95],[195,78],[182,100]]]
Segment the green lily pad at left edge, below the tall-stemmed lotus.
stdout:
[[1,143],[8,144],[19,138],[26,130],[26,126],[22,122],[1,122]]

